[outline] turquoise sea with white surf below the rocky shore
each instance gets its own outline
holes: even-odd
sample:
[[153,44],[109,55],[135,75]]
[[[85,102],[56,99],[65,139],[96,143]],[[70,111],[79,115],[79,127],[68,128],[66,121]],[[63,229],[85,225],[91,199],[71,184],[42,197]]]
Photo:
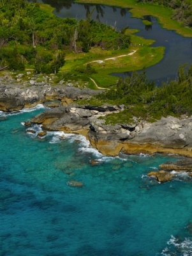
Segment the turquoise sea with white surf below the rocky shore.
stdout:
[[146,175],[178,156],[103,157],[82,136],[40,139],[22,122],[42,110],[0,122],[0,255],[192,255],[191,179]]

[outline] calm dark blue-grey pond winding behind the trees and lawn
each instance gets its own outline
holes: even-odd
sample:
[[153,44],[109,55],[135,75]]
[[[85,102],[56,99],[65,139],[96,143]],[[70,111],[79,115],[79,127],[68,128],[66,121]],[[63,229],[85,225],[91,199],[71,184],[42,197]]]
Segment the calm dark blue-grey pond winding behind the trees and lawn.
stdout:
[[[157,20],[151,16],[145,19],[152,21],[152,26],[145,26],[141,19],[131,17],[128,9],[105,6],[101,4],[79,4],[71,1],[41,0],[41,3],[51,4],[55,7],[55,15],[61,18],[73,17],[86,19],[87,15],[94,8],[92,19],[100,20],[104,24],[116,26],[122,29],[129,26],[130,29],[139,29],[138,36],[156,40],[152,45],[166,47],[165,56],[158,64],[147,68],[147,77],[155,80],[158,84],[166,81],[167,78],[175,79],[180,64],[192,61],[192,38],[184,38],[174,31],[161,28]],[[126,77],[129,72],[115,73],[115,76]]]

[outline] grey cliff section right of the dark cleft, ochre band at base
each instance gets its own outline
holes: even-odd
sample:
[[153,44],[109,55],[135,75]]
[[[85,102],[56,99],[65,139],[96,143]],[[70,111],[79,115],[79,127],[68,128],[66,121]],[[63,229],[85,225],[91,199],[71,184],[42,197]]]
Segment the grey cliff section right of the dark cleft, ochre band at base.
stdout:
[[192,118],[161,118],[155,123],[137,124],[129,134],[115,134],[112,130],[94,129],[89,131],[92,147],[96,147],[102,154],[117,156],[119,152],[125,154],[180,154],[192,157]]

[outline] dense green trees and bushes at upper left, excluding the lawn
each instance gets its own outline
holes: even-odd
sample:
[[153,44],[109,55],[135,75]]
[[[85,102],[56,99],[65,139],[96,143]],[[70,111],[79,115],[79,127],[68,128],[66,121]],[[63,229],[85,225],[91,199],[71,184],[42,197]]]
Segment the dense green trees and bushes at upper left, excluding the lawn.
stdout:
[[24,0],[0,1],[0,70],[24,70],[31,65],[36,72],[58,72],[66,52],[125,49],[130,36],[91,19],[59,19],[43,10],[39,3]]

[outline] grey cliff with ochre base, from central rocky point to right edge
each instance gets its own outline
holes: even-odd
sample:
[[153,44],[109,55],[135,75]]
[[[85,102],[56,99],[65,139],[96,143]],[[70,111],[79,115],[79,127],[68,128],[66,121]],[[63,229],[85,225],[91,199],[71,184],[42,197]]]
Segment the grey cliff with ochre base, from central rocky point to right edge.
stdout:
[[[158,122],[105,125],[100,116],[121,111],[120,106],[68,105],[49,109],[31,122],[45,130],[86,134],[92,147],[107,156],[124,154],[180,154],[192,157],[192,118],[161,118]],[[83,132],[84,131],[84,132]]]

